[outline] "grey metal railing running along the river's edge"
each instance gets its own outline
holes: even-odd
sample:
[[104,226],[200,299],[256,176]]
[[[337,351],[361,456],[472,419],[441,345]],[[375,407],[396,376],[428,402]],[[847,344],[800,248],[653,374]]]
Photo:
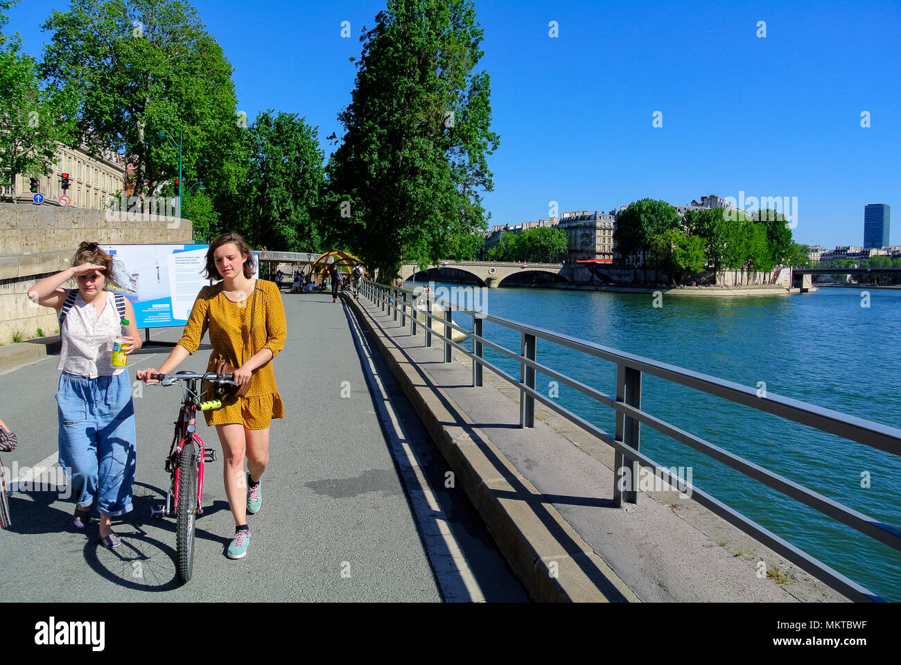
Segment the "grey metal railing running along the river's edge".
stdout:
[[[416,299],[424,299],[426,309],[424,312],[425,323],[424,338],[425,346],[432,346],[432,335],[437,335],[444,342],[444,362],[451,362],[451,351],[456,349],[472,360],[472,385],[479,387],[483,385],[483,369],[487,368],[494,372],[498,377],[504,379],[508,383],[519,388],[520,391],[520,426],[533,427],[535,417],[535,400],[550,408],[552,411],[566,418],[570,423],[576,424],[589,434],[607,443],[614,449],[614,506],[622,506],[623,502],[637,503],[638,490],[635,488],[627,489],[623,487],[622,482],[618,482],[619,478],[627,476],[633,478],[633,485],[637,484],[639,478],[639,469],[648,469],[655,473],[658,477],[664,477],[673,487],[677,487],[682,492],[690,492],[691,498],[696,500],[702,506],[705,506],[716,515],[724,518],[725,521],[733,524],[742,532],[756,538],[758,541],[766,544],[772,550],[777,551],[792,561],[801,569],[822,579],[831,587],[839,590],[847,597],[854,600],[881,600],[876,594],[869,589],[860,586],[857,582],[845,577],[838,572],[825,565],[823,562],[816,560],[807,554],[780,538],[775,533],[771,533],[768,529],[753,522],[748,517],[737,512],[733,508],[726,506],[721,501],[715,499],[691,485],[690,482],[678,478],[669,472],[665,467],[661,467],[654,460],[643,454],[640,449],[640,425],[646,424],[675,439],[684,443],[690,448],[700,451],[708,457],[717,460],[726,466],[740,471],[749,478],[754,478],[768,487],[776,489],[785,496],[790,496],[797,501],[814,508],[819,513],[832,517],[833,519],[847,524],[851,528],[856,529],[860,533],[865,533],[878,542],[882,542],[896,551],[901,551],[901,531],[890,524],[884,524],[877,519],[863,515],[862,513],[844,506],[827,496],[823,496],[803,485],[800,485],[788,478],[780,476],[769,469],[764,469],[758,464],[749,460],[745,460],[739,455],[726,451],[713,443],[706,442],[704,439],[688,433],[675,425],[669,424],[656,416],[642,410],[642,375],[648,374],[654,377],[662,378],[681,386],[700,390],[713,396],[722,397],[735,404],[750,406],[759,411],[777,415],[795,423],[804,424],[814,427],[825,433],[840,436],[843,439],[860,442],[880,451],[886,451],[893,455],[901,456],[901,430],[895,427],[889,427],[884,424],[874,423],[856,416],[842,414],[831,409],[821,408],[815,405],[809,405],[790,397],[779,396],[774,393],[767,392],[763,396],[758,396],[758,391],[754,388],[742,386],[741,384],[726,381],[721,378],[711,377],[706,374],[683,369],[675,365],[668,365],[657,360],[650,360],[636,356],[631,353],[623,353],[609,347],[601,346],[594,342],[587,342],[569,335],[552,333],[542,328],[536,328],[524,323],[518,323],[499,316],[489,316],[466,307],[457,307],[458,312],[469,314],[472,316],[473,329],[471,331],[460,327],[459,324],[453,322],[453,305],[451,302],[435,299],[433,294],[424,294],[411,289],[391,287],[385,284],[379,284],[365,280],[362,284],[362,295],[369,298],[373,303],[380,305],[382,312],[394,311],[395,320],[398,312],[401,317],[401,325],[406,325],[406,319],[410,319],[411,333],[416,334]],[[432,304],[438,303],[444,310],[443,323],[444,333],[436,333],[432,331],[432,320],[437,317],[432,315]],[[519,353],[510,351],[504,347],[490,342],[484,337],[485,322],[496,323],[510,330],[518,331],[521,335],[521,345]],[[473,351],[469,351],[462,347],[459,343],[453,342],[451,339],[451,329],[460,331],[473,341]],[[574,379],[569,378],[555,369],[551,369],[542,365],[537,361],[536,341],[538,339],[553,342],[560,346],[567,347],[573,351],[585,353],[588,356],[608,360],[614,362],[617,367],[616,371],[616,396],[605,395],[605,393],[596,390],[593,387]],[[514,378],[507,374],[491,362],[485,360],[485,348],[493,349],[507,358],[516,360],[520,365],[520,378]],[[595,399],[597,402],[609,406],[614,409],[616,414],[616,426],[614,437],[605,433],[599,427],[589,423],[587,420],[574,414],[569,409],[561,406],[550,397],[544,396],[535,390],[535,373],[542,372],[560,383],[572,387],[583,395]]]

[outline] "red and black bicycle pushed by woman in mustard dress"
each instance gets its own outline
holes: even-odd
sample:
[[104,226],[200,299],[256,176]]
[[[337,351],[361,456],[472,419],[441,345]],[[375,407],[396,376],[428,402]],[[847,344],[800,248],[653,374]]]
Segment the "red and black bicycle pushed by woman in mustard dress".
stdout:
[[204,498],[204,464],[216,459],[216,451],[206,450],[204,442],[197,436],[196,414],[198,409],[208,411],[222,408],[222,402],[218,399],[201,401],[203,392],[198,392],[197,381],[211,384],[205,392],[214,389],[216,384],[238,384],[234,382],[232,374],[214,372],[197,374],[181,371],[175,374],[152,374],[150,378],[158,380],[160,386],[172,386],[176,381],[185,381],[186,384],[181,410],[175,422],[175,436],[166,458],[166,470],[171,474],[171,483],[166,500],[150,508],[150,515],[154,519],[173,515],[176,517],[176,570],[178,578],[184,583],[191,578],[194,570],[195,518],[204,512],[201,505]]

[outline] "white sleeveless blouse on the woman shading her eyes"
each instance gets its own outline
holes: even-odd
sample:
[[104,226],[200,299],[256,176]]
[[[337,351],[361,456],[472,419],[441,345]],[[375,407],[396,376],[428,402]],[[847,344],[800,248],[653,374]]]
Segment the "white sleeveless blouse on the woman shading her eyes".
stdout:
[[105,294],[106,303],[99,319],[94,303],[86,303],[80,291],[75,296],[75,303],[59,328],[57,369],[86,378],[123,373],[124,368],[110,365],[115,338],[122,334],[122,326],[113,292],[106,291]]

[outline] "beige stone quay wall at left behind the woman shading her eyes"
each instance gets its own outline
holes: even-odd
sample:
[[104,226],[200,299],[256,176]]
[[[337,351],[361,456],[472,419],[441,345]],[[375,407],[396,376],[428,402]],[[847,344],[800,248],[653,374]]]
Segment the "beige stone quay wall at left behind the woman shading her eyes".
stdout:
[[[101,244],[190,243],[190,220],[109,210],[0,204],[0,344],[58,332],[56,314],[32,303],[28,289],[68,267],[81,241]],[[74,282],[63,287],[75,287]]]

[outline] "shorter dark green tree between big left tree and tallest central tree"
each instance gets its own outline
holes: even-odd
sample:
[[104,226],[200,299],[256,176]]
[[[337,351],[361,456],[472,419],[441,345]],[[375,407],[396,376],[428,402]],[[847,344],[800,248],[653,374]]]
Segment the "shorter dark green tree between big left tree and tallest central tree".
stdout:
[[263,111],[248,128],[247,240],[274,251],[320,251],[324,152],[296,114]]

